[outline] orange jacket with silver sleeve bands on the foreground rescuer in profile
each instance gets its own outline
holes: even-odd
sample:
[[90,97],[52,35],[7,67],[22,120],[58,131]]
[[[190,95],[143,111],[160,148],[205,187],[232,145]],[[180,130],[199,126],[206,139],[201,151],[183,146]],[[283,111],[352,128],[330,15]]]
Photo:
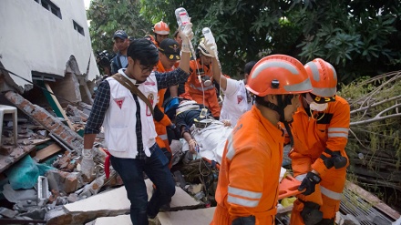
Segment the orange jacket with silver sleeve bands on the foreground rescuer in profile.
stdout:
[[211,224],[249,216],[256,225],[274,224],[283,141],[283,130],[257,107],[242,115],[224,148]]

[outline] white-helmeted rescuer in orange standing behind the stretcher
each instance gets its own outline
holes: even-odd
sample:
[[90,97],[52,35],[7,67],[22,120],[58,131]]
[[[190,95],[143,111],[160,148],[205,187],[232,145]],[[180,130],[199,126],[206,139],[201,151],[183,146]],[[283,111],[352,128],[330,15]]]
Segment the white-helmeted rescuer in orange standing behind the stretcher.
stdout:
[[190,77],[185,83],[185,93],[180,96],[191,98],[198,104],[208,107],[213,118],[219,119],[221,107],[211,74],[212,55],[206,50],[204,39],[200,40],[196,58],[196,60],[190,60]]

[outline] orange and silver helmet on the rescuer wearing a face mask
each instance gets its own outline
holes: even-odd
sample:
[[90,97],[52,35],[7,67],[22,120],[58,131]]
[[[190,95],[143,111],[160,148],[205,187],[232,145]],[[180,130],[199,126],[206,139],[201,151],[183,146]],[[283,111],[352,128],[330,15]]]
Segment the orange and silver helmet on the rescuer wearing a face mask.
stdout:
[[311,79],[312,94],[317,97],[334,97],[337,92],[337,73],[334,67],[322,58],[315,58],[305,64],[306,73]]

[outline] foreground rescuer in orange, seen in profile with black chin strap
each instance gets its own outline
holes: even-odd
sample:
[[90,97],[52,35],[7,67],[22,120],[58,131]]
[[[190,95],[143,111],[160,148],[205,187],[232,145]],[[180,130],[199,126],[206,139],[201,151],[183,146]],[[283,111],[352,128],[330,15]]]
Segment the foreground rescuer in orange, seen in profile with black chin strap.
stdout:
[[300,94],[312,90],[303,64],[284,55],[256,63],[246,88],[256,96],[255,105],[238,120],[225,145],[211,224],[274,224],[283,160],[280,125],[289,128]]

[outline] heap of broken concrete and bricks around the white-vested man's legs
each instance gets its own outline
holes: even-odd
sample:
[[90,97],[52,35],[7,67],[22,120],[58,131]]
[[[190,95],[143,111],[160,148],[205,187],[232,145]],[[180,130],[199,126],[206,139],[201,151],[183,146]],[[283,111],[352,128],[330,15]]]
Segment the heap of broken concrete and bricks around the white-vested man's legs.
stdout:
[[[57,118],[51,111],[39,107],[14,91],[6,92],[5,98],[32,120],[24,120],[23,123],[23,119],[18,120],[17,146],[12,146],[13,134],[8,134],[5,130],[5,138],[0,148],[1,171],[14,170],[19,175],[24,174],[24,172],[18,172],[20,170],[14,165],[17,165],[20,159],[26,158],[29,158],[28,161],[31,162],[29,166],[36,168],[43,164],[46,165],[46,171],[41,171],[39,176],[36,174],[32,175],[34,177],[24,177],[24,179],[34,179],[30,182],[36,182],[28,189],[14,189],[10,184],[13,182],[8,183],[7,178],[4,180],[5,184],[0,184],[5,199],[13,204],[10,208],[0,208],[0,219],[7,218],[15,222],[35,220],[46,224],[84,224],[86,222],[96,224],[114,216],[127,220],[130,203],[126,190],[121,187],[121,179],[113,169],[109,179],[106,179],[104,175],[106,155],[100,148],[101,135],[96,142],[96,146],[99,147],[98,158],[95,159],[96,175],[87,178],[79,171],[81,159],[79,149],[82,148],[83,138],[77,134],[77,130],[85,127],[91,106],[79,103],[77,106],[66,107],[68,119],[73,123],[73,128],[76,128],[72,130],[66,125],[65,120]],[[53,144],[47,145],[48,142]],[[42,145],[47,147],[43,148]],[[201,192],[202,186],[187,184],[180,170],[177,170],[175,174],[180,176],[178,186],[188,189],[191,195]],[[146,183],[150,197],[153,188],[149,179],[146,179]],[[202,201],[194,199],[184,189],[176,188],[176,194],[170,202],[171,211],[196,211],[205,208]],[[160,221],[166,220],[165,217],[169,216],[160,214]],[[158,218],[154,220],[155,224],[160,222]],[[130,220],[128,222],[130,223]]]

